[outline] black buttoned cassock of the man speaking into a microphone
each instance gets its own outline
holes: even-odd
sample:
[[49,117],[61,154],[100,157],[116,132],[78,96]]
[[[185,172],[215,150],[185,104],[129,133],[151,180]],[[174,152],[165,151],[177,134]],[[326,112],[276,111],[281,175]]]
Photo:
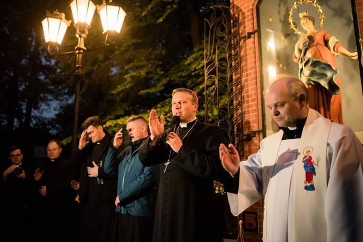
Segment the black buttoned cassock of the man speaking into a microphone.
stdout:
[[161,164],[153,241],[223,241],[222,208],[213,187],[223,170],[219,159],[222,132],[216,125],[191,121],[179,134],[181,149],[173,153],[165,143],[170,131],[162,134],[152,150],[147,139],[138,152],[145,166]]

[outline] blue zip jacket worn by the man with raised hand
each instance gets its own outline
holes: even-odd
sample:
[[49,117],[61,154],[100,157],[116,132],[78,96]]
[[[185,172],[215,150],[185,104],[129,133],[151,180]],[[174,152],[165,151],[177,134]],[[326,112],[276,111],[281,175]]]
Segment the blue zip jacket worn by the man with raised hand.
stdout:
[[118,154],[111,145],[104,169],[106,173],[119,174],[117,196],[121,208],[116,212],[134,216],[154,216],[158,193],[159,165],[143,166],[138,158],[138,148],[145,140],[139,139]]

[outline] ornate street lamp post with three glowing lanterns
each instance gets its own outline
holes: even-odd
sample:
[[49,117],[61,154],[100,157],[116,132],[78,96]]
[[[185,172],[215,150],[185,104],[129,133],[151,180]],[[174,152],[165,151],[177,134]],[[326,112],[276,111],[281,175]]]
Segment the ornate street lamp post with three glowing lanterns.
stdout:
[[[110,0],[111,2],[112,0]],[[73,130],[72,130],[72,151],[76,149],[77,144],[77,128],[78,128],[78,113],[79,113],[79,92],[81,81],[85,78],[83,74],[83,56],[86,51],[84,40],[87,38],[88,30],[91,28],[91,20],[94,11],[97,12],[101,18],[101,24],[104,32],[113,30],[120,33],[123,20],[126,13],[123,9],[116,5],[107,4],[104,0],[101,5],[95,5],[91,0],[72,0],[70,3],[72,15],[74,19],[74,27],[76,28],[76,37],[78,38],[78,45],[75,47],[76,53],[76,71],[73,74],[75,80],[75,104],[73,113]],[[61,45],[65,31],[70,26],[71,20],[65,20],[65,15],[59,13],[58,10],[53,14],[46,11],[46,17],[42,20],[43,31],[45,35],[45,42],[48,43],[48,52],[55,55],[50,51],[50,46]],[[108,35],[108,32],[107,32]],[[106,39],[107,39],[106,35]],[[105,42],[106,43],[106,42]]]

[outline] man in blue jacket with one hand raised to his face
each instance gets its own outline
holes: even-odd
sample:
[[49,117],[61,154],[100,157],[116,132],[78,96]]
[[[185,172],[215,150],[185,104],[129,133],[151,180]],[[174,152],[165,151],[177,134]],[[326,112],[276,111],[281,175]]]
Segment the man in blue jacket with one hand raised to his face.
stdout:
[[115,135],[105,160],[106,173],[119,174],[115,241],[151,242],[159,165],[146,167],[138,158],[138,149],[149,136],[147,121],[140,116],[131,117],[126,121],[126,129],[131,145],[119,154],[118,148],[123,141],[121,129]]

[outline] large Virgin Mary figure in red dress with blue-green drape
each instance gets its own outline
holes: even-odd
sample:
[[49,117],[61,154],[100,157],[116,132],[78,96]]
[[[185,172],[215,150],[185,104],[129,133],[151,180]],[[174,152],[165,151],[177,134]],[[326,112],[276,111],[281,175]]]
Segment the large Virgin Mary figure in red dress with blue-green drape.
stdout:
[[299,63],[299,78],[307,85],[309,107],[325,118],[343,123],[342,94],[335,57],[358,59],[325,30],[316,30],[315,19],[306,11],[300,14],[301,26],[307,31],[295,44],[294,61]]

